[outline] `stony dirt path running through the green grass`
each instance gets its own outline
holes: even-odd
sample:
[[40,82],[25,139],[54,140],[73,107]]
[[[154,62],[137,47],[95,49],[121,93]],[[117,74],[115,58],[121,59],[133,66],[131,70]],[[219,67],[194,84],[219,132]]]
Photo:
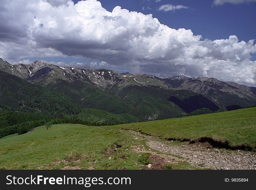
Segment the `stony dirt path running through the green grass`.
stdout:
[[[234,151],[227,149],[216,149],[205,143],[194,143],[184,145],[171,145],[171,142],[159,142],[151,136],[143,135],[138,132],[129,131],[138,139],[142,136],[146,139],[146,144],[151,149],[161,151],[163,153],[170,153],[179,155],[175,160],[186,161],[191,165],[199,168],[209,169],[256,169],[256,155],[247,151]],[[170,145],[167,145],[170,144]],[[151,150],[141,149],[142,152],[152,152]],[[138,148],[134,149],[138,151]],[[156,153],[154,153],[156,155]],[[169,156],[170,158],[172,156]],[[171,158],[173,160],[173,158]],[[170,162],[170,161],[169,161]]]

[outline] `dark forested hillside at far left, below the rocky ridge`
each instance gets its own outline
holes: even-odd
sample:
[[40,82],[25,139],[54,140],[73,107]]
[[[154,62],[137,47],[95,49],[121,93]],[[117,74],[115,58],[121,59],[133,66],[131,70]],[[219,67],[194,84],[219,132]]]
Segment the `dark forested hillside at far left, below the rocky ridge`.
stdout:
[[0,105],[13,111],[65,117],[79,113],[79,106],[59,91],[31,84],[0,71]]

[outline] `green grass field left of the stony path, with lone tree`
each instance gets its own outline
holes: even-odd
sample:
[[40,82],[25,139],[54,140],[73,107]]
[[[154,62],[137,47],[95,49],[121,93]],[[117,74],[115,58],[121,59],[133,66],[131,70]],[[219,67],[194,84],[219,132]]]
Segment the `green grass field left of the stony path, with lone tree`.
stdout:
[[[121,144],[119,152],[102,152]],[[105,130],[80,124],[56,124],[46,130],[45,126],[23,135],[0,140],[1,169],[61,169],[67,166],[63,160],[69,155],[79,154],[68,162],[68,166],[80,169],[140,169],[138,153],[131,151],[131,145],[144,144],[134,140],[119,129]],[[126,150],[127,149],[127,150]],[[108,160],[112,157],[111,160]],[[97,160],[97,163],[94,162]]]

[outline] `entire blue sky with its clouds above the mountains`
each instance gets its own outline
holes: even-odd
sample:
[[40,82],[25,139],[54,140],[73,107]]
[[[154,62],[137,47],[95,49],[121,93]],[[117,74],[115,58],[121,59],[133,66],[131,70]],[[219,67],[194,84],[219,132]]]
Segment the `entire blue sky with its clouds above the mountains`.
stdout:
[[2,0],[0,57],[256,86],[256,0]]

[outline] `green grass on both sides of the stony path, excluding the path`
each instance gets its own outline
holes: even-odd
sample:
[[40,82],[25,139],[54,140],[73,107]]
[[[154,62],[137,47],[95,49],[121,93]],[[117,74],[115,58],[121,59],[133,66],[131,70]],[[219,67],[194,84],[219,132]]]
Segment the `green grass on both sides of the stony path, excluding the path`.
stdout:
[[[148,149],[145,139],[136,140],[129,131],[122,129],[141,131],[163,140],[211,137],[228,141],[230,146],[246,144],[255,147],[256,107],[116,126],[56,124],[48,130],[40,126],[23,135],[14,134],[0,139],[0,169],[61,169],[67,166],[80,169],[92,166],[94,169],[145,168],[138,160],[139,153],[132,150],[132,145],[143,145]],[[115,143],[122,147],[111,151]],[[106,154],[107,150],[110,150],[109,154]],[[184,165],[180,168],[193,169],[188,163],[185,165],[185,168]]]

